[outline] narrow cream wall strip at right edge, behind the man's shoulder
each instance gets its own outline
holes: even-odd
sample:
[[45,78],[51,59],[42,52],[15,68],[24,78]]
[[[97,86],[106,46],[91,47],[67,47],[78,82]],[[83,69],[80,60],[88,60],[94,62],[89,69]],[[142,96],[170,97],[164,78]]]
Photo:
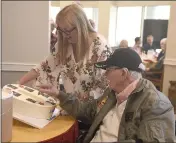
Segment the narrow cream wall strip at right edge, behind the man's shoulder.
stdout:
[[167,35],[167,49],[164,70],[163,92],[168,94],[169,81],[176,81],[176,1],[171,3]]

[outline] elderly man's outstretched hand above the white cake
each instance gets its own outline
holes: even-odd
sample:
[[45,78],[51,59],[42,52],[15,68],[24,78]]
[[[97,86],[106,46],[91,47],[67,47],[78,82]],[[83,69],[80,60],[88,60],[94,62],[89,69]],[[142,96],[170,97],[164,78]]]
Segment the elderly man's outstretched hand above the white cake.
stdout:
[[59,95],[59,90],[52,85],[40,85],[38,86],[38,90],[53,97],[57,97]]

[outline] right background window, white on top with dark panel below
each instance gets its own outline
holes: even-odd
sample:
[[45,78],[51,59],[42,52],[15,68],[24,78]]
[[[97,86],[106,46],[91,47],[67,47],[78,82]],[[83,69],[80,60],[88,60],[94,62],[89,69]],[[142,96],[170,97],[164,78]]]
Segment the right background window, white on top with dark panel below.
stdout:
[[148,35],[153,35],[154,45],[160,48],[160,40],[167,37],[169,17],[169,5],[144,7],[143,44],[147,43]]

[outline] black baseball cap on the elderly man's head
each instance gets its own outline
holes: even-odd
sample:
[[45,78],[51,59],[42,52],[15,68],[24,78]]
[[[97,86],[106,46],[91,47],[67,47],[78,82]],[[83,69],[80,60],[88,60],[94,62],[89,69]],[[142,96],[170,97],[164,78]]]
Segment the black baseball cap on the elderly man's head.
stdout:
[[137,72],[145,70],[140,56],[131,48],[119,48],[106,61],[95,63],[95,67],[105,70],[114,66]]

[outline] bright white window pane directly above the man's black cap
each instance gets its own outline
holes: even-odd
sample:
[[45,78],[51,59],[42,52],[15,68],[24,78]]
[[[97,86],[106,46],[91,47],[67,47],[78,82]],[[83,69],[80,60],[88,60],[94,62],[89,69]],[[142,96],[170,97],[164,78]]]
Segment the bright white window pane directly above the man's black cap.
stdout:
[[116,45],[125,39],[128,46],[134,45],[135,37],[141,34],[142,7],[119,7],[117,10]]

